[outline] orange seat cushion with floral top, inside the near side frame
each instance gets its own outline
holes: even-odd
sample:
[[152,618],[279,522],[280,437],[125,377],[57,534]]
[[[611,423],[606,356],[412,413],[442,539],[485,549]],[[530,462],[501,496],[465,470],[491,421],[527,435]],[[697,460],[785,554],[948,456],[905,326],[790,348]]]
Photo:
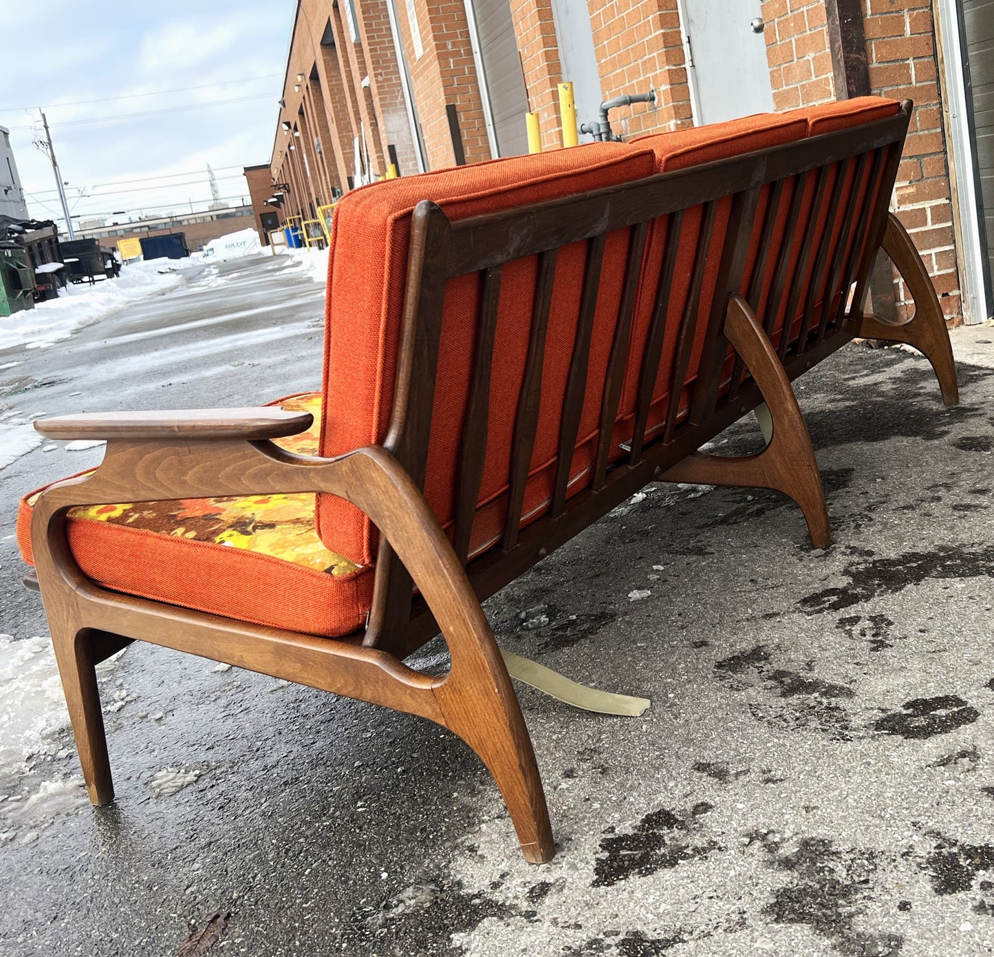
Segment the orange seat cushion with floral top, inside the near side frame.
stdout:
[[[308,432],[276,444],[316,455],[321,394],[281,400],[314,415]],[[18,543],[28,564],[31,510],[21,500]],[[313,494],[244,495],[88,505],[69,513],[68,537],[83,574],[104,588],[310,635],[336,638],[366,621],[372,569],[327,548]]]

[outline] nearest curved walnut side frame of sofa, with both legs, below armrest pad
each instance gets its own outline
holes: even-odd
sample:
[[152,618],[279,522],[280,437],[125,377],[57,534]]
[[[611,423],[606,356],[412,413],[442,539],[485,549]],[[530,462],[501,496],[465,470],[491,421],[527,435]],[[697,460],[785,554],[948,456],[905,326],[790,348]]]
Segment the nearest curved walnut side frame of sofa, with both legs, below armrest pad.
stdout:
[[[222,461],[219,463],[218,458]],[[449,645],[443,677],[408,669],[378,649],[187,611],[107,592],[88,581],[69,548],[75,505],[150,498],[324,491],[362,508],[391,542]],[[53,645],[90,800],[111,800],[92,630],[285,676],[409,711],[472,747],[500,788],[522,851],[548,861],[552,831],[531,741],[500,652],[448,539],[414,481],[384,449],[334,460],[293,456],[271,443],[170,445],[113,442],[89,476],[58,482],[34,506],[32,544]]]

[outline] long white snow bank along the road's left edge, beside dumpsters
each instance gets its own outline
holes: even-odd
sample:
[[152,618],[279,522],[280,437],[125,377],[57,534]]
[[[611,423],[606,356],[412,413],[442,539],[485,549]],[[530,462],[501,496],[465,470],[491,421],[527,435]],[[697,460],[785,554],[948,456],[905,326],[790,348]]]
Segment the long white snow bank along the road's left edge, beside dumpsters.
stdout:
[[103,280],[94,286],[70,286],[63,289],[58,299],[0,317],[0,349],[19,345],[27,349],[47,348],[134,299],[178,286],[180,282],[175,267],[153,260],[122,267],[116,280]]

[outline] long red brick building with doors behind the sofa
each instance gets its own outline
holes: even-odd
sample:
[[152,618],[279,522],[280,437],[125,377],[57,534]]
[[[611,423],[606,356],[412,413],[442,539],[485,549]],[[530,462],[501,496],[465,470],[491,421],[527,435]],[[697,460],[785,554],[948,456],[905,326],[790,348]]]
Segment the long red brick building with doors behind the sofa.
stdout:
[[[950,321],[982,321],[994,309],[994,110],[983,103],[994,80],[986,87],[981,69],[992,36],[983,0],[299,0],[258,191],[285,184],[282,214],[315,218],[392,163],[410,175],[525,152],[529,111],[543,147],[558,148],[565,81],[581,123],[598,120],[603,99],[653,92],[611,111],[624,137],[907,96],[894,208]],[[896,296],[900,311],[900,284]]]

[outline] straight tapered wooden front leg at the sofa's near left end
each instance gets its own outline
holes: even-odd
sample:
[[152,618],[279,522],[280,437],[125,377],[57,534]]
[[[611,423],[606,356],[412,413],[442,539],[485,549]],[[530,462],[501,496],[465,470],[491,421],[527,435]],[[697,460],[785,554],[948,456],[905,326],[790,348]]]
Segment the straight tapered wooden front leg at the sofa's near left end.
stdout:
[[52,627],[52,646],[80,752],[86,793],[90,804],[109,804],[114,799],[114,785],[110,777],[92,644],[84,632],[70,625]]

